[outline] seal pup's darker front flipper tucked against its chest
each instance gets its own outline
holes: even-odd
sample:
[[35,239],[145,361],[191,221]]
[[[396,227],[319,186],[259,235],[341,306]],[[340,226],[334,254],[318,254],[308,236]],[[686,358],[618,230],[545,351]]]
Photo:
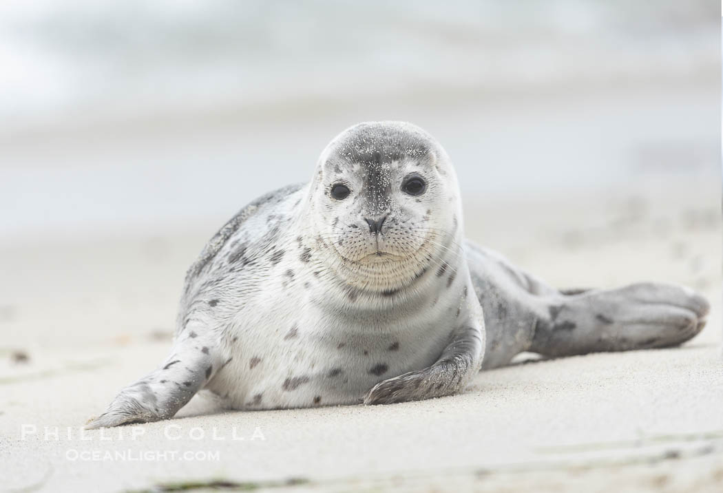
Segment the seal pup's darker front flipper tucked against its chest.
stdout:
[[457,393],[479,372],[483,354],[482,327],[456,330],[435,364],[379,382],[364,396],[364,404],[393,404]]

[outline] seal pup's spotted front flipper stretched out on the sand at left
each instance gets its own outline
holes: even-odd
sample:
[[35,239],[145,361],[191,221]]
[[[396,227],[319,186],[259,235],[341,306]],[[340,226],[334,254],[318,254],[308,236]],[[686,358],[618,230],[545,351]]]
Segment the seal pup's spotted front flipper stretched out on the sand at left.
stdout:
[[215,352],[213,346],[205,346],[193,331],[184,334],[158,369],[121,390],[108,410],[85,427],[103,428],[171,418],[213,377],[218,367]]

